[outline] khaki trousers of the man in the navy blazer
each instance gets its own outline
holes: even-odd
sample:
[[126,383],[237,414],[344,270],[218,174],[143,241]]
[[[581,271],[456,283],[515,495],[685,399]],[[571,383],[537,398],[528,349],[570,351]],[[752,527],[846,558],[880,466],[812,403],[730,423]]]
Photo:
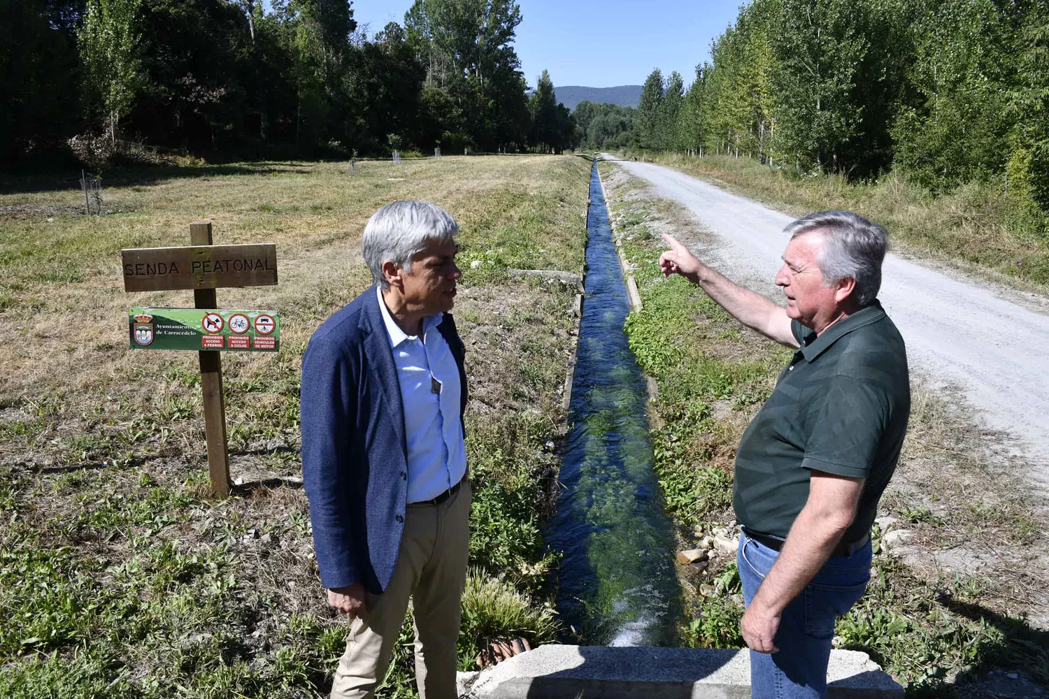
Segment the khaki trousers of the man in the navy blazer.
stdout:
[[440,505],[408,505],[393,577],[368,593],[339,660],[333,699],[371,699],[386,675],[408,597],[415,620],[415,683],[422,699],[456,699],[455,642],[466,585],[470,482]]

